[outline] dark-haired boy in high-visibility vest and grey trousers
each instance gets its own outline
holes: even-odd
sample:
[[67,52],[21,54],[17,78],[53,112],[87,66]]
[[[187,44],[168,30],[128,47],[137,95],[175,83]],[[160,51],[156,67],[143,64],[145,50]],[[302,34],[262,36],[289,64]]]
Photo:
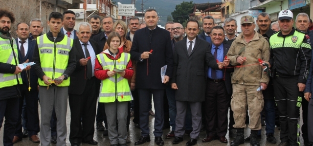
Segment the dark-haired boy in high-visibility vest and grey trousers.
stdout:
[[76,57],[71,51],[73,40],[60,33],[63,17],[59,12],[49,15],[50,32],[37,38],[33,61],[39,77],[41,105],[41,146],[50,146],[50,119],[53,107],[57,115],[57,144],[66,145],[67,95],[69,76],[76,67]]

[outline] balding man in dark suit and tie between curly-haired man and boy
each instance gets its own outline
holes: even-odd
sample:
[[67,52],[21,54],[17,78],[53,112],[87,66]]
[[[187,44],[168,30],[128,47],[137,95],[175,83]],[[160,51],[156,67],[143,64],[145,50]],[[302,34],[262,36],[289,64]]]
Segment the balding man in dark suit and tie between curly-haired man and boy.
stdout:
[[[19,23],[17,25],[16,33],[18,38],[16,43],[19,52],[19,62],[33,62],[33,52],[35,48],[35,41],[28,39],[29,36],[29,25],[26,23]],[[26,113],[27,113],[27,130],[29,140],[34,143],[39,143],[40,139],[37,136],[40,131],[39,128],[39,114],[38,114],[38,91],[37,82],[38,77],[34,70],[23,71],[21,73],[23,84],[21,85],[21,98],[19,98],[19,118],[16,123],[16,130],[13,138],[13,143],[17,143],[22,140],[22,106],[25,98],[26,102]],[[29,89],[30,87],[30,89]]]

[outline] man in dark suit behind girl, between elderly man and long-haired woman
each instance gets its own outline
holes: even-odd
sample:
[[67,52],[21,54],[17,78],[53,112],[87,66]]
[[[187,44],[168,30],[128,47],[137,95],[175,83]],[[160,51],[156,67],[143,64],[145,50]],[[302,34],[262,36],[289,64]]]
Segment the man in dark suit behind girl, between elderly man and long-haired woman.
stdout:
[[[99,49],[104,49],[104,45],[106,44],[107,38],[110,35],[110,33],[113,31],[113,18],[110,16],[107,16],[102,19],[102,28],[104,29],[104,32],[94,36],[92,40],[96,41],[98,43]],[[106,129],[104,130],[102,122],[104,122],[104,126]],[[108,136],[108,122],[107,122],[107,116],[104,110],[104,104],[98,103],[98,109],[96,114],[96,126],[98,131],[104,131],[103,136]]]

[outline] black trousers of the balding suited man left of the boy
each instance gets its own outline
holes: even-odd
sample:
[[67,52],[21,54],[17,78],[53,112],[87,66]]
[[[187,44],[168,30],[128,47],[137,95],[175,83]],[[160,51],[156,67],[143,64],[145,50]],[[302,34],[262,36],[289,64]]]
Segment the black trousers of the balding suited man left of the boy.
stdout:
[[29,137],[37,135],[40,131],[39,127],[39,114],[38,114],[38,91],[28,91],[28,87],[25,84],[21,85],[20,88],[21,97],[19,98],[19,117],[16,123],[15,136],[22,137],[22,107],[24,98],[26,102],[26,113],[27,113],[27,130]]

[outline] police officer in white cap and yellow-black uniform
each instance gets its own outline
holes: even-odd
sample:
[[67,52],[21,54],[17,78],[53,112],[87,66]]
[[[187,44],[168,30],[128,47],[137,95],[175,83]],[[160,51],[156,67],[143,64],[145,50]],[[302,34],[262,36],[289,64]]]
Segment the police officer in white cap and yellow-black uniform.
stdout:
[[279,111],[279,146],[299,146],[299,109],[311,60],[310,37],[295,30],[293,14],[278,15],[280,32],[269,38],[274,95]]

